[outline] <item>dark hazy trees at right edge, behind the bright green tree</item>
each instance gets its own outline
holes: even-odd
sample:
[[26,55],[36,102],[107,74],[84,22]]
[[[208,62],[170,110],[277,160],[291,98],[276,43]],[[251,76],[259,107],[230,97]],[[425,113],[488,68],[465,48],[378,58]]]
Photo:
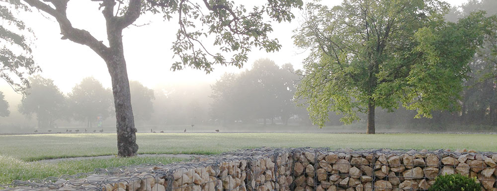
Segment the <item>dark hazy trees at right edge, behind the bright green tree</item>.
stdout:
[[461,100],[462,111],[453,121],[462,124],[497,125],[497,1],[469,0],[459,7],[453,7],[446,16],[449,21],[457,21],[475,11],[486,11],[489,29],[485,42],[478,50],[469,67],[471,73],[464,81]]

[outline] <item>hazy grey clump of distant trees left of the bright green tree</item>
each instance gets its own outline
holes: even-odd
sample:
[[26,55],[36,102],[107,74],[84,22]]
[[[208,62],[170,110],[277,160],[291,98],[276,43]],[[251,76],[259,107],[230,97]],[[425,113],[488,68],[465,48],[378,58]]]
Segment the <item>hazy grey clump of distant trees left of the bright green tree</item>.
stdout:
[[211,86],[210,115],[223,125],[260,120],[265,126],[274,119],[287,125],[292,117],[307,116],[294,102],[298,79],[292,64],[280,67],[269,59],[257,60],[250,70],[226,73]]

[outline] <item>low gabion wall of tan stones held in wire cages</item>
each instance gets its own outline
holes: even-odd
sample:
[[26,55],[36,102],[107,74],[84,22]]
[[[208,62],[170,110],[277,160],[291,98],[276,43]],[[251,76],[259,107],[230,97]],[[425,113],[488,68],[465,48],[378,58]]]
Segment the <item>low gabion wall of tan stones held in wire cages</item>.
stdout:
[[437,176],[477,177],[497,191],[497,153],[467,150],[257,148],[186,163],[97,169],[14,181],[5,190],[95,191],[427,191]]

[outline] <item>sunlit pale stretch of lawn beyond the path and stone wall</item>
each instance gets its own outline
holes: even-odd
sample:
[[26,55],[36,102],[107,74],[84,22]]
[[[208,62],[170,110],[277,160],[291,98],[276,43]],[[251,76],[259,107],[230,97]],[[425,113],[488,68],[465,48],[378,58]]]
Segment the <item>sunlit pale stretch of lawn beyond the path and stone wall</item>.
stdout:
[[[497,151],[497,134],[138,133],[139,153],[218,154],[254,147],[331,147]],[[24,161],[117,154],[116,135],[0,136],[0,153]]]

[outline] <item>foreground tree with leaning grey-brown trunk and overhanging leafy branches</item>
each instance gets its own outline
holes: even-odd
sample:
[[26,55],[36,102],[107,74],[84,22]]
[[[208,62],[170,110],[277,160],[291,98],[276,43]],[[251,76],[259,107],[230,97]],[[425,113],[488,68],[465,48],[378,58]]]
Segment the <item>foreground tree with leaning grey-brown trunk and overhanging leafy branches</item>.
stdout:
[[[278,41],[267,36],[272,31],[269,21],[290,21],[294,18],[291,8],[300,8],[303,4],[302,0],[268,0],[263,6],[246,9],[227,0],[93,0],[99,1],[99,8],[103,9],[106,45],[88,31],[71,24],[66,14],[69,0],[22,1],[54,17],[60,24],[62,39],[86,45],[107,64],[112,79],[119,156],[134,156],[138,150],[124,58],[123,29],[144,13],[162,14],[165,19],[175,16],[179,29],[172,51],[177,59],[171,68],[191,66],[210,72],[213,64],[241,67],[253,46],[266,51],[279,50]],[[201,42],[207,36],[214,38],[214,46],[221,53],[204,48]],[[226,59],[224,55],[231,52],[234,54]]]

